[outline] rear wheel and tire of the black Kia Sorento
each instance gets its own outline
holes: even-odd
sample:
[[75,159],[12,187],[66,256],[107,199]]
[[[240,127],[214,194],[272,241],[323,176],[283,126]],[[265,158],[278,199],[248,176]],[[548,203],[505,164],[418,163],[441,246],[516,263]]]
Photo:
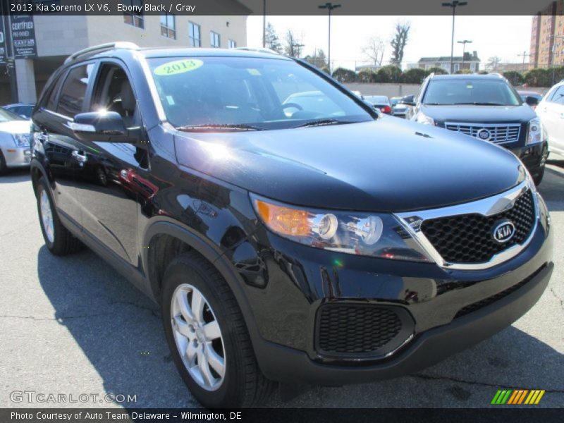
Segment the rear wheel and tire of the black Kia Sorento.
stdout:
[[82,250],[83,244],[63,226],[53,207],[51,190],[44,178],[37,181],[37,214],[47,249],[54,255],[68,255]]

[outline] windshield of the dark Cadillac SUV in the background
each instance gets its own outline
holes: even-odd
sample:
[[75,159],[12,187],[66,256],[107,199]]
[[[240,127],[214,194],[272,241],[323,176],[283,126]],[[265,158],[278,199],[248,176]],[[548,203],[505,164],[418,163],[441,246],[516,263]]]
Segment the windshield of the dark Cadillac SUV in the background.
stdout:
[[431,80],[423,104],[477,104],[519,106],[521,99],[504,80],[445,79]]

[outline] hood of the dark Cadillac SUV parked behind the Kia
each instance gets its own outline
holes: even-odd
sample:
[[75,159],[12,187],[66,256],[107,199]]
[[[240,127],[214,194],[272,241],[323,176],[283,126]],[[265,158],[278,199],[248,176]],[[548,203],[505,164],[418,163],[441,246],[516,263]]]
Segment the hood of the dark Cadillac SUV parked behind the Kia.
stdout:
[[440,123],[527,123],[537,117],[527,104],[521,106],[429,106],[422,104],[421,112]]

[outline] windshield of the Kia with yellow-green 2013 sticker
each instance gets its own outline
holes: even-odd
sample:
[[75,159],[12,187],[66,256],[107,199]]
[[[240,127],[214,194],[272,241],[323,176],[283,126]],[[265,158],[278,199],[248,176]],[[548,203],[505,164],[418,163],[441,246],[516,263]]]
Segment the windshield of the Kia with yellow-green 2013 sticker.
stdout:
[[[177,128],[295,128],[309,121],[370,121],[330,82],[281,59],[148,59],[166,118]],[[184,128],[183,128],[184,127]]]

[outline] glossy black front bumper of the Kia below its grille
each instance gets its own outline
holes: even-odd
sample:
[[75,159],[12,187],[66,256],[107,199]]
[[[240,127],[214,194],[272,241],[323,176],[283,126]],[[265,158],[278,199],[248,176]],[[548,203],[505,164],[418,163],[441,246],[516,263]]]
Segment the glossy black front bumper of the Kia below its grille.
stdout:
[[[544,214],[517,256],[489,269],[456,270],[328,252],[257,231],[257,244],[243,243],[231,259],[249,252],[233,264],[245,281],[259,367],[276,381],[340,385],[439,362],[501,331],[537,302],[553,270],[552,232]],[[256,262],[251,250],[259,252]],[[317,343],[327,305],[403,309],[412,321],[405,343],[378,357],[327,355]]]

